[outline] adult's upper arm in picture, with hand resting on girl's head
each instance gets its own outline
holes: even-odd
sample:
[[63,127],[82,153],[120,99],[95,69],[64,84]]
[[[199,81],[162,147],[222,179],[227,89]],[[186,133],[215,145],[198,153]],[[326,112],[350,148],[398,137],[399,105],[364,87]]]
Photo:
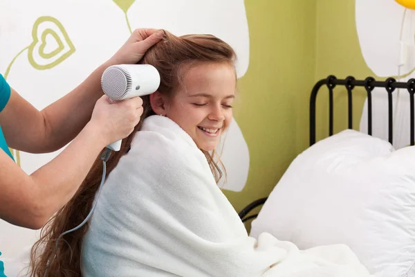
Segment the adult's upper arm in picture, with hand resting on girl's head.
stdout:
[[53,152],[72,141],[88,123],[95,102],[103,94],[100,80],[104,70],[113,64],[138,62],[163,37],[158,34],[155,29],[135,30],[110,60],[42,111],[12,89],[8,104],[0,112],[0,125],[10,148],[31,153]]

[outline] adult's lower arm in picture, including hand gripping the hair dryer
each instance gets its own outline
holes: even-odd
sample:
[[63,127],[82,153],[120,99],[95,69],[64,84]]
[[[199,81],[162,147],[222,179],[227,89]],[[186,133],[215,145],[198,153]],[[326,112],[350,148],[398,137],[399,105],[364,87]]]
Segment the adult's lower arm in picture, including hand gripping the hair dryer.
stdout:
[[73,197],[102,148],[131,134],[141,105],[140,98],[110,104],[102,96],[82,132],[32,175],[0,150],[0,218],[29,229],[42,228]]

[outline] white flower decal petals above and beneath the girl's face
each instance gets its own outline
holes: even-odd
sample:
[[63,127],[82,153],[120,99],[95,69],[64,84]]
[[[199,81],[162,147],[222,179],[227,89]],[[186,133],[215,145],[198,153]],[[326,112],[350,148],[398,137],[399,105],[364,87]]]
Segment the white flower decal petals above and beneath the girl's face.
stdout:
[[[160,9],[159,7],[164,7]],[[157,10],[153,12],[143,12]],[[175,35],[190,33],[212,34],[228,42],[237,53],[237,77],[241,78],[248,69],[249,34],[243,0],[153,0],[136,1],[127,12],[132,28],[153,26],[165,28]],[[223,148],[221,160],[228,173],[227,190],[241,191],[248,179],[249,152],[243,134],[232,120]]]

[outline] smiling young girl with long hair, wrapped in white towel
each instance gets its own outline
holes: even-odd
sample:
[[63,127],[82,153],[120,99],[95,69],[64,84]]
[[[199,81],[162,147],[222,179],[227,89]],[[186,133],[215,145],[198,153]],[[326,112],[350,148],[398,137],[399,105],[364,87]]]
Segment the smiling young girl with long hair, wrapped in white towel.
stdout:
[[[64,236],[48,276],[369,276],[344,246],[299,251],[266,233],[250,238],[216,186],[225,177],[215,148],[232,120],[234,62],[212,35],[165,32],[149,49],[142,63],[158,69],[160,87],[143,97],[145,119],[111,154],[91,220]],[[91,211],[101,175],[97,159],[45,227],[33,276],[44,276],[58,236]]]

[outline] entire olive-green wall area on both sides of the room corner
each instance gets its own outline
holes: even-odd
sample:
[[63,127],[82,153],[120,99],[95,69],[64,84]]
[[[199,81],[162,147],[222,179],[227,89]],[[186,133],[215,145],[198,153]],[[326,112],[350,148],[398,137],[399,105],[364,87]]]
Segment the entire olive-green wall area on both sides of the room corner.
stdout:
[[[239,212],[269,195],[297,154],[308,147],[309,98],[328,75],[364,79],[376,75],[363,60],[355,0],[246,1],[250,65],[239,80],[235,118],[250,150],[248,183],[224,191]],[[376,78],[379,79],[379,78]],[[353,129],[358,129],[365,90],[353,91]],[[334,132],[347,128],[347,91],[335,89]],[[327,89],[317,98],[317,140],[329,132]]]

